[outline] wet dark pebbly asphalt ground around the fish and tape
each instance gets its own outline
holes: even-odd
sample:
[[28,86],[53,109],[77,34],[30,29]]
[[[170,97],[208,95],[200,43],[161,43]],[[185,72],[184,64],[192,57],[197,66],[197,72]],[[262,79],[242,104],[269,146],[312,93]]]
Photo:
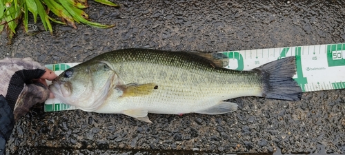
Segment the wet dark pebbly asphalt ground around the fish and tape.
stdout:
[[[150,46],[207,52],[345,42],[345,1],[88,1],[92,21],[115,28],[54,25],[54,34],[1,35],[0,56],[43,64],[81,62],[103,52]],[[31,22],[33,25],[34,23]],[[36,24],[43,30],[41,23]],[[231,99],[237,112],[208,116],[43,112],[17,122],[8,154],[345,154],[345,90],[306,92],[302,101]]]

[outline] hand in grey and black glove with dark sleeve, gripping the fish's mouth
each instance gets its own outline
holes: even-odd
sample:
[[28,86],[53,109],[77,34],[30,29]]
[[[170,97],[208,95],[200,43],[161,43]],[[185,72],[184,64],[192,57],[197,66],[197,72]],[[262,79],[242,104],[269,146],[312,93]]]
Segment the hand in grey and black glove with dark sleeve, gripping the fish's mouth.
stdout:
[[30,58],[0,60],[0,155],[5,154],[15,121],[34,104],[53,97],[46,79],[55,77],[54,72]]

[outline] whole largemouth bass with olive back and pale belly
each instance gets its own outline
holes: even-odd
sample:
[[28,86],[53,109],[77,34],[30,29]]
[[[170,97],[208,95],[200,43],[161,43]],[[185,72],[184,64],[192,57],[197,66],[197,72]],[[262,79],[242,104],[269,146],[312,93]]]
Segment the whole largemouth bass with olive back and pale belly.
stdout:
[[117,113],[150,122],[148,113],[224,114],[239,96],[297,101],[302,90],[292,77],[295,57],[250,71],[221,67],[222,58],[200,52],[150,49],[100,54],[59,75],[55,97],[87,112]]

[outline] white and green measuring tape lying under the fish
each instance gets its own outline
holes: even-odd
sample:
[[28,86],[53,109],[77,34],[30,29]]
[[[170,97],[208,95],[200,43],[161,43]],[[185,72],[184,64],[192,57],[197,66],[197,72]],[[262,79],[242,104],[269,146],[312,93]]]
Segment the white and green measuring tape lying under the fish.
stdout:
[[[345,43],[219,53],[228,56],[228,61],[223,62],[224,68],[233,70],[251,70],[286,56],[296,56],[297,73],[293,78],[303,92],[345,88]],[[57,63],[46,65],[46,68],[61,74],[77,64]],[[44,106],[46,112],[75,109],[77,107],[57,99],[48,99]]]

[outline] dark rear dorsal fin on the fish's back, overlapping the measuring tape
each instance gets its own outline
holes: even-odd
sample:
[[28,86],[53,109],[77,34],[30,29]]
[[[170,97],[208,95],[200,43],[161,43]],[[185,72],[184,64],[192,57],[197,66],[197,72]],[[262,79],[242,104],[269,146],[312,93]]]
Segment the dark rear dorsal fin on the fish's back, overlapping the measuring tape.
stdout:
[[210,61],[210,65],[213,67],[223,68],[228,65],[228,56],[218,52],[191,52],[192,54],[198,55]]

